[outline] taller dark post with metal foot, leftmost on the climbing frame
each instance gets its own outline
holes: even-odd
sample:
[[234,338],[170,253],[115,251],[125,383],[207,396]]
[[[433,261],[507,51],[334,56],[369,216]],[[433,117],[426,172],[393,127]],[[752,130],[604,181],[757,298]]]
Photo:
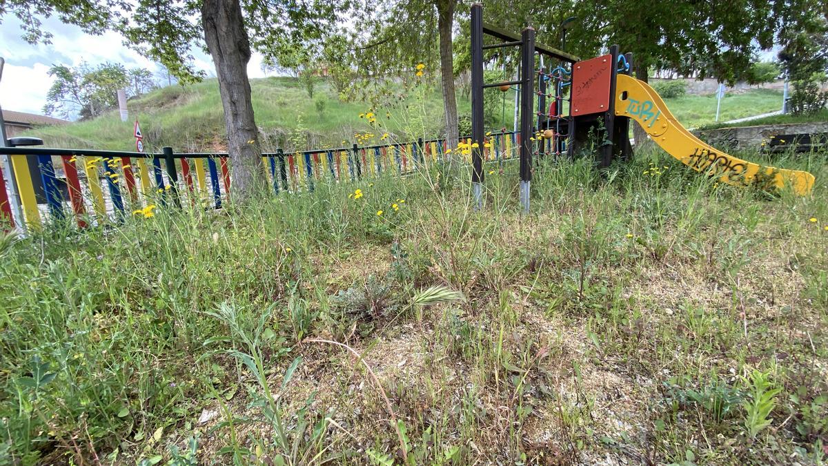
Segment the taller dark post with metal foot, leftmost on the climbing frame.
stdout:
[[474,3],[471,6],[471,182],[477,209],[483,208],[483,99],[483,5]]

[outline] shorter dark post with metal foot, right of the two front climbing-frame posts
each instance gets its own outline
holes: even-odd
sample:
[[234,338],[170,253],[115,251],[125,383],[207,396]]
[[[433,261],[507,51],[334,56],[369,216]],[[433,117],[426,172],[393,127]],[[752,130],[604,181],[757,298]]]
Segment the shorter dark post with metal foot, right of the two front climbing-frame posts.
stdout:
[[521,33],[521,85],[520,109],[520,200],[523,213],[529,213],[529,187],[532,182],[532,120],[535,97],[535,30],[527,27]]

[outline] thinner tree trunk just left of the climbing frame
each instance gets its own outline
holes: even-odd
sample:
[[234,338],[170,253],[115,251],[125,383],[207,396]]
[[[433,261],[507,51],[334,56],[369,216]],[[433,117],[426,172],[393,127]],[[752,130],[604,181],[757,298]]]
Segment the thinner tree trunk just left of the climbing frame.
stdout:
[[445,109],[445,139],[450,148],[457,146],[457,97],[455,95],[455,61],[451,45],[456,0],[437,0],[437,31],[440,33],[440,83]]

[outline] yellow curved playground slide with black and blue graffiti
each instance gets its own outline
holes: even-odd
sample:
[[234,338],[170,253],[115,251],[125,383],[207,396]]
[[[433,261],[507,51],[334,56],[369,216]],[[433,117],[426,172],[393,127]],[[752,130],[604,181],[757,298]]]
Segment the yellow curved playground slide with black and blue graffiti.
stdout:
[[719,177],[734,186],[758,183],[763,188],[790,187],[799,196],[811,193],[814,176],[809,172],[763,167],[710,147],[676,120],[664,100],[647,83],[618,75],[615,114],[638,121],[653,141],[696,172]]

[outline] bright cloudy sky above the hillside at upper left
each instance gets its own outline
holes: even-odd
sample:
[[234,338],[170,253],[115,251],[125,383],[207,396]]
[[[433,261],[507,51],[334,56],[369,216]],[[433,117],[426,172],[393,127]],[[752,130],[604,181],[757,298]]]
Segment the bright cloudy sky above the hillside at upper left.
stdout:
[[[6,66],[0,80],[0,107],[7,110],[41,114],[46,104],[46,93],[53,78],[48,75],[54,65],[78,66],[82,61],[98,65],[109,61],[121,63],[127,68],[141,66],[152,72],[159,67],[152,61],[123,46],[123,38],[117,32],[103,36],[90,36],[79,27],[63,24],[56,18],[43,20],[43,29],[52,32],[51,44],[31,45],[22,40],[21,22],[13,15],[7,15],[0,24],[0,56],[6,59]],[[213,61],[201,50],[195,50],[195,67],[215,75]],[[248,63],[251,78],[265,76],[262,71],[262,56],[253,54]]]

